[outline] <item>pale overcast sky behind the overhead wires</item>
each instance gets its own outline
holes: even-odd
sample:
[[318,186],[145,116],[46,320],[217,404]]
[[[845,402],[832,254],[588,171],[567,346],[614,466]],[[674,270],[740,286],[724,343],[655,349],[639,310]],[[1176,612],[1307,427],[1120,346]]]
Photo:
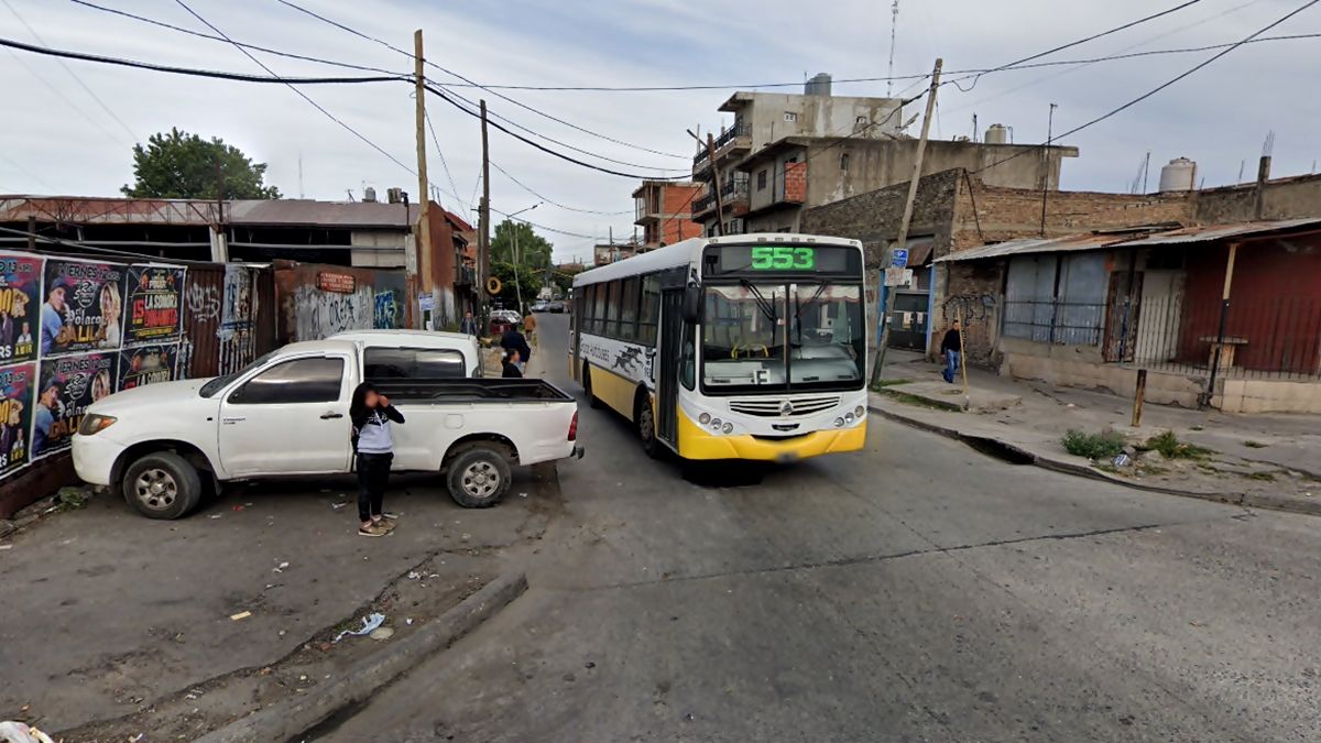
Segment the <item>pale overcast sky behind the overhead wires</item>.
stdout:
[[[95,0],[141,16],[207,30],[173,0]],[[358,65],[411,71],[411,61],[277,0],[188,0],[236,41]],[[9,7],[5,7],[8,4]],[[890,49],[888,0],[300,0],[395,46],[411,49],[421,28],[427,57],[483,85],[729,85],[721,90],[664,93],[506,91],[520,103],[626,141],[616,144],[551,122],[491,93],[494,114],[563,143],[613,160],[604,167],[660,173],[691,168],[686,128],[719,127],[716,107],[734,86],[802,81],[804,74],[882,77]],[[901,0],[896,74],[993,67],[1177,5],[1177,0]],[[1170,16],[1069,49],[1050,59],[1079,59],[1238,41],[1303,5],[1303,0],[1202,0]],[[181,66],[262,74],[235,48],[189,37],[69,0],[0,0],[0,36],[50,46]],[[1321,32],[1321,7],[1268,34]],[[1192,67],[1214,52],[1141,57],[1078,67],[991,74],[968,91],[945,86],[934,136],[950,139],[1009,124],[1018,143],[1042,141],[1046,114],[1058,103],[1055,132],[1067,131]],[[258,53],[281,75],[363,74]],[[181,78],[61,62],[25,52],[0,52],[5,106],[0,112],[0,193],[115,196],[132,180],[131,145],[172,126],[221,136],[269,164],[267,180],[287,197],[355,197],[363,185],[417,193],[417,180],[362,140],[317,112],[284,86]],[[77,73],[79,79],[71,77]],[[1244,178],[1269,131],[1275,176],[1308,173],[1321,157],[1316,122],[1321,98],[1321,38],[1243,46],[1210,67],[1065,144],[1082,156],[1065,163],[1063,188],[1127,192],[1143,157],[1152,153],[1149,188],[1173,157],[1197,160],[1205,184]],[[454,82],[440,70],[437,81]],[[967,87],[971,81],[963,83]],[[86,89],[83,87],[86,85]],[[898,94],[908,81],[894,83]],[[100,102],[98,103],[92,95]],[[415,163],[412,90],[403,83],[306,86],[317,103],[410,168]],[[836,85],[844,95],[885,95],[884,82]],[[472,215],[480,171],[476,119],[429,98],[428,106],[449,173],[429,144],[431,181],[441,202]],[[107,110],[110,112],[107,112]],[[114,115],[111,115],[111,112]],[[119,120],[116,120],[116,118]],[[120,123],[122,122],[122,123]],[[915,131],[915,127],[914,127]],[[559,145],[551,145],[559,148]],[[657,155],[655,151],[668,155]],[[300,180],[299,163],[303,163]],[[571,212],[543,204],[526,214],[539,225],[583,235],[633,231],[637,182],[564,163],[491,131],[491,160]],[[457,198],[456,198],[457,196]],[[494,209],[517,212],[540,198],[498,171],[491,172]],[[498,218],[498,217],[497,217]],[[592,239],[547,234],[560,260],[587,256]]]

